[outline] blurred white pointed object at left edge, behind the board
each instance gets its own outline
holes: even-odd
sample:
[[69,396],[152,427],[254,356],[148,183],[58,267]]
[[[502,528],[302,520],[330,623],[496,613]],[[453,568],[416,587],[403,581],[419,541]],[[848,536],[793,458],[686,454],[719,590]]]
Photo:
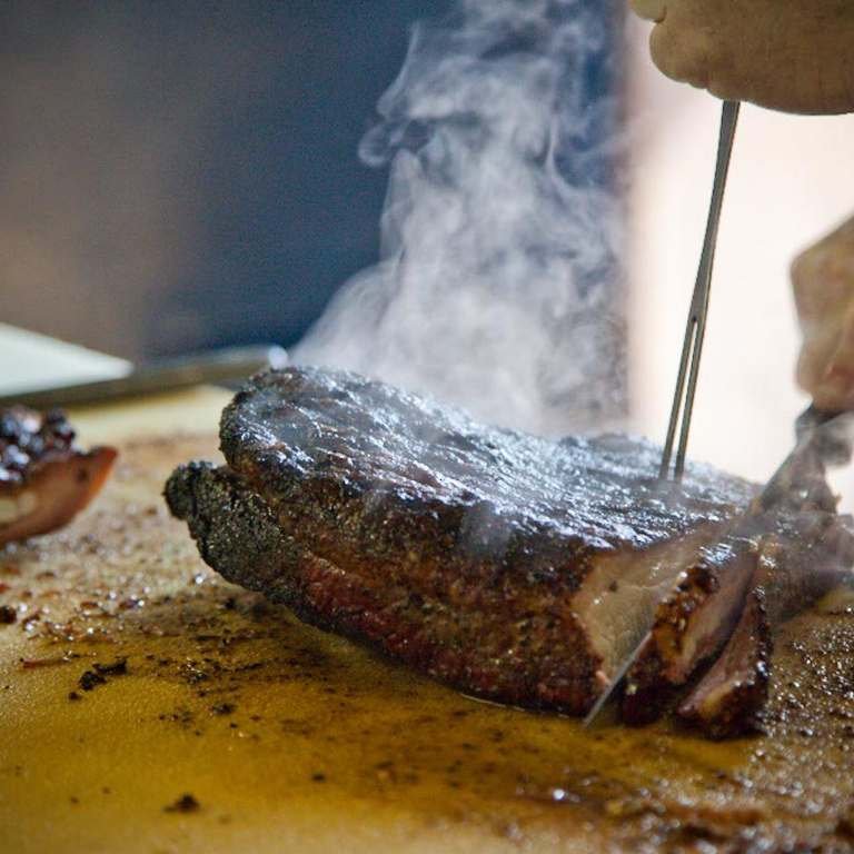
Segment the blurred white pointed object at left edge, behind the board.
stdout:
[[0,324],[0,394],[120,377],[130,367],[125,359]]

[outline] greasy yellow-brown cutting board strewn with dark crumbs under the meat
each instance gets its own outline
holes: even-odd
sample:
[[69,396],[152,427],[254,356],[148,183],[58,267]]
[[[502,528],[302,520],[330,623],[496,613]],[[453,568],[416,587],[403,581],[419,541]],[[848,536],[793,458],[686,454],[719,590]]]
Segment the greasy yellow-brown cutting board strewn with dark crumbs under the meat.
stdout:
[[0,852],[852,848],[850,597],[786,627],[766,737],[585,733],[476,702],[201,563],[160,489],[216,458],[225,399],[75,413],[86,440],[120,444],[115,476],[68,529],[0,550],[18,608],[0,626]]

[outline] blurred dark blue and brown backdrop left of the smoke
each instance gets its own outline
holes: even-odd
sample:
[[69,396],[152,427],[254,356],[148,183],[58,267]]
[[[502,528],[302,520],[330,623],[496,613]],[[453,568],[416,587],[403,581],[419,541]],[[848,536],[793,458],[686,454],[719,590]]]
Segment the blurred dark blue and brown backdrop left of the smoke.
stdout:
[[449,6],[1,4],[0,320],[130,358],[297,340],[376,260],[358,143]]

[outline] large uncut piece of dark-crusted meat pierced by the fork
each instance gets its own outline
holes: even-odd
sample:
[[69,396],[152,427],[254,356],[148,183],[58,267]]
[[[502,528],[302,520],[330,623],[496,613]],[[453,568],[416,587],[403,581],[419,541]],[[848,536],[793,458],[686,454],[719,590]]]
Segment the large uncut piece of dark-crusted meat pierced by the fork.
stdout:
[[221,421],[227,466],[166,487],[202,557],[305,619],[464,691],[583,714],[754,488],[659,449],[484,427],[379,383],[260,375]]

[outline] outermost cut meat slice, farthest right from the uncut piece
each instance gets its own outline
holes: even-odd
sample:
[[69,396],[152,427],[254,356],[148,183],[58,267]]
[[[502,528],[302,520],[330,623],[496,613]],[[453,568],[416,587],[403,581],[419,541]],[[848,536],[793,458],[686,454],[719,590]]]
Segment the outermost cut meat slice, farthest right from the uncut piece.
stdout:
[[803,513],[781,524],[762,545],[735,630],[679,716],[715,738],[761,729],[776,630],[847,577],[852,559],[850,517]]

